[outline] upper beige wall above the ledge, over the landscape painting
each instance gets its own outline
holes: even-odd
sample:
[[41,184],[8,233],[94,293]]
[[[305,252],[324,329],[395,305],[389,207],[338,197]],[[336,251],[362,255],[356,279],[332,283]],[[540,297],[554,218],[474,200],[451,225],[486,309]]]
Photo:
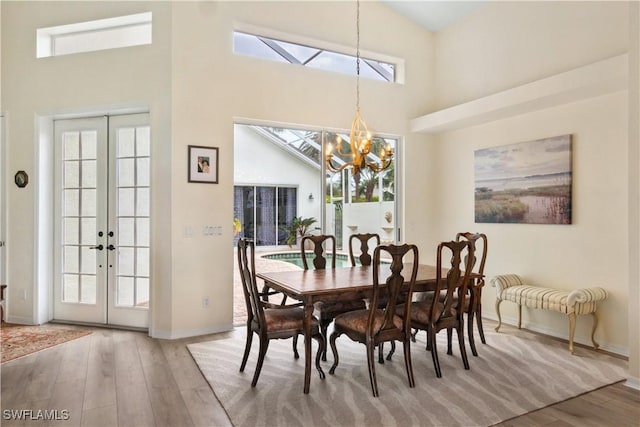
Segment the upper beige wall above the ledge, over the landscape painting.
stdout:
[[627,52],[627,9],[626,1],[488,2],[437,33],[438,107]]

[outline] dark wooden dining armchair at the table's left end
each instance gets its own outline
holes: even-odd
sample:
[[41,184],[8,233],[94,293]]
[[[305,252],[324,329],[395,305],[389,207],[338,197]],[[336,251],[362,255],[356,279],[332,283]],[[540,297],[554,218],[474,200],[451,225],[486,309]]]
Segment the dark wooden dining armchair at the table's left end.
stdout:
[[[253,334],[255,333],[260,339],[258,362],[251,382],[251,387],[255,387],[258,383],[258,377],[262,370],[262,364],[267,354],[269,342],[272,339],[293,338],[293,354],[296,359],[299,357],[296,343],[298,335],[304,334],[304,310],[301,308],[302,303],[288,305],[284,303],[274,304],[264,299],[264,297],[268,295],[278,293],[276,291],[258,292],[255,269],[255,244],[252,240],[246,238],[238,240],[238,266],[242,280],[242,290],[247,305],[247,340],[242,363],[240,364],[240,372],[244,372],[247,359],[249,358],[249,352],[251,351]],[[312,318],[311,336],[318,341],[316,369],[318,369],[320,373],[320,378],[324,378],[324,372],[320,367],[320,355],[325,350],[326,342],[320,333],[318,319],[315,317]]]

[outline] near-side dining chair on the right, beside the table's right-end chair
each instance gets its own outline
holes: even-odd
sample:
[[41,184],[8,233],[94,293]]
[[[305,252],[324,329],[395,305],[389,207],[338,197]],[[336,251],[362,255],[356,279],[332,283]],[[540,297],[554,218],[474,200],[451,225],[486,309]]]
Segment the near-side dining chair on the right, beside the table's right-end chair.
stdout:
[[[465,369],[469,369],[464,345],[464,313],[460,307],[464,307],[471,275],[473,262],[471,242],[442,242],[438,245],[436,258],[435,291],[420,301],[412,302],[410,314],[411,327],[427,332],[427,349],[431,350],[436,376],[440,378],[442,372],[438,360],[436,334],[443,329],[456,330],[462,363]],[[446,258],[451,260],[450,265],[445,265]],[[434,295],[439,297],[434,298]],[[400,315],[403,312],[400,311]]]

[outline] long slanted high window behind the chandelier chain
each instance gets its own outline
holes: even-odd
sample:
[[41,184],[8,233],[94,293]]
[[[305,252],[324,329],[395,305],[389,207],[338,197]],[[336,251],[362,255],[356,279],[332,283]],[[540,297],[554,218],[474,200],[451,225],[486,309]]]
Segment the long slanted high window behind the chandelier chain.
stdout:
[[[277,62],[304,65],[343,74],[356,74],[356,57],[353,55],[240,31],[233,33],[233,51],[237,54]],[[362,77],[387,82],[396,81],[395,64],[363,57],[360,60]]]

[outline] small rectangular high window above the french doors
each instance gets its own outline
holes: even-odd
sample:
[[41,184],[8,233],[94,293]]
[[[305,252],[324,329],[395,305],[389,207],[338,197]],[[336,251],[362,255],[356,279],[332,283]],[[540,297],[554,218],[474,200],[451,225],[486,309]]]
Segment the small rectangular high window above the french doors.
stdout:
[[151,44],[151,12],[37,30],[36,57]]

